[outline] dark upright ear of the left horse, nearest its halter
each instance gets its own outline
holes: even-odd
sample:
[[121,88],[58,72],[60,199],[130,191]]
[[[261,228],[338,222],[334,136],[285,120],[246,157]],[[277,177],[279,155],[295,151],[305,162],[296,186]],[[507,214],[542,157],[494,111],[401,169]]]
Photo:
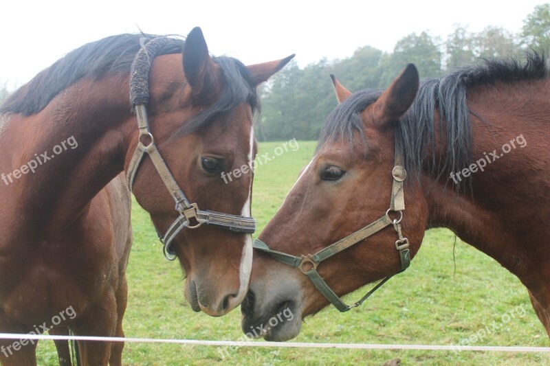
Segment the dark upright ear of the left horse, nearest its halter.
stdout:
[[201,28],[195,27],[189,32],[182,57],[185,78],[189,82],[192,95],[201,100],[214,94],[217,91],[217,73]]

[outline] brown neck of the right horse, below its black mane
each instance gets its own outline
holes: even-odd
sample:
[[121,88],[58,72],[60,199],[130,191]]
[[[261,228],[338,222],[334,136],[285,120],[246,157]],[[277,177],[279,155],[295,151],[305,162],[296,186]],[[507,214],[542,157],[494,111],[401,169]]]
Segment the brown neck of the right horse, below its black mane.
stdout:
[[[545,194],[550,183],[544,176],[550,157],[540,138],[547,135],[548,84],[499,84],[469,92],[467,103],[475,113],[471,156],[477,165],[470,169],[471,189],[463,179],[465,192],[454,190],[449,173],[423,183],[428,227],[449,227],[528,287],[529,270],[540,260],[540,238],[547,231],[542,223],[550,220],[550,196]],[[518,137],[525,139],[523,147]],[[505,144],[515,148],[505,152]],[[483,159],[487,164],[481,171]]]

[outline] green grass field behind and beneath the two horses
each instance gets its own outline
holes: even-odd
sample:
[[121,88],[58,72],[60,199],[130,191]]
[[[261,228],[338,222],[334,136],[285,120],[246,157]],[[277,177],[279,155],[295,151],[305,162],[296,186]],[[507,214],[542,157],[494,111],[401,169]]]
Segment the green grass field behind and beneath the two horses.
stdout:
[[[282,143],[260,144],[274,156]],[[252,214],[259,229],[275,213],[315,143],[300,142],[256,169]],[[151,221],[133,207],[134,243],[128,268],[129,304],[126,336],[241,340],[239,309],[212,318],[192,312],[183,296],[183,275],[177,262],[164,260]],[[255,234],[257,236],[257,233]],[[327,308],[307,319],[299,342],[410,343],[457,345],[480,334],[470,345],[548,346],[542,325],[531,308],[527,290],[494,260],[436,229],[426,234],[410,268],[391,279],[361,308],[341,314]],[[348,297],[358,299],[362,292]],[[305,350],[245,347],[126,344],[125,365],[382,365],[400,358],[401,365],[547,365],[550,355],[444,351]],[[55,365],[52,342],[39,344],[39,364]]]

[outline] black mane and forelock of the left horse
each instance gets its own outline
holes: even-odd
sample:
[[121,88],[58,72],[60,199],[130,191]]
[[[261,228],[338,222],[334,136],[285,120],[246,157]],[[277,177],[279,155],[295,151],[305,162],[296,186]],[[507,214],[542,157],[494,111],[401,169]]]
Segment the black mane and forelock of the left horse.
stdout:
[[[98,78],[107,73],[129,73],[142,45],[156,37],[142,33],[120,34],[87,43],[69,52],[10,95],[0,106],[0,114],[21,113],[28,116],[39,113],[58,93],[82,78]],[[170,37],[157,56],[181,53],[183,46],[183,39]],[[239,60],[226,56],[214,57],[212,60],[222,71],[225,85],[221,96],[212,106],[184,124],[179,133],[192,133],[217,119],[225,121],[232,109],[241,102],[248,102],[253,112],[259,108],[256,82],[248,68]]]

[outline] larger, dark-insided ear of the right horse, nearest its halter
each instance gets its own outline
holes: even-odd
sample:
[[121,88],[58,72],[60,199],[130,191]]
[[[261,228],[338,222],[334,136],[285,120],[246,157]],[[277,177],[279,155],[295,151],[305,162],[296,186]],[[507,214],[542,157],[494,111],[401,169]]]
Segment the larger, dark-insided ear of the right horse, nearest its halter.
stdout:
[[395,122],[415,101],[419,87],[418,71],[408,64],[391,86],[375,102],[375,117],[380,124]]

